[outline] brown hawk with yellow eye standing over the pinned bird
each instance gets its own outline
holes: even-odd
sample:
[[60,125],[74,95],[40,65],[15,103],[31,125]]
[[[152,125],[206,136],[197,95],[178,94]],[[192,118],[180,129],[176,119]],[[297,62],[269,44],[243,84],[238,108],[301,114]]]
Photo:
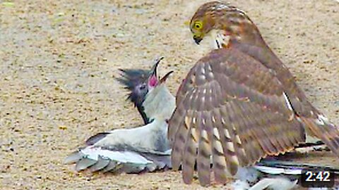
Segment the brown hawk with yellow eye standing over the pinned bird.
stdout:
[[[191,18],[196,44],[206,36],[217,49],[186,75],[169,120],[172,167],[190,184],[237,175],[240,167],[292,150],[306,135],[339,156],[339,129],[307,100],[291,72],[270,50],[251,19],[218,1]],[[210,168],[213,163],[213,168]]]

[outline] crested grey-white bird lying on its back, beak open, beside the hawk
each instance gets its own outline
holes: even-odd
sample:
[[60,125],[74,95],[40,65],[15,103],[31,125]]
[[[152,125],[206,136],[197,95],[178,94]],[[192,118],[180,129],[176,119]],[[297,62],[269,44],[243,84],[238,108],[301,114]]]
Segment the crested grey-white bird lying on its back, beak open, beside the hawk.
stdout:
[[175,108],[174,96],[165,81],[157,76],[158,59],[150,70],[121,70],[121,78],[130,93],[145,125],[130,129],[114,129],[90,137],[84,148],[79,148],[64,163],[76,163],[76,170],[102,172],[153,172],[171,167],[167,120]]

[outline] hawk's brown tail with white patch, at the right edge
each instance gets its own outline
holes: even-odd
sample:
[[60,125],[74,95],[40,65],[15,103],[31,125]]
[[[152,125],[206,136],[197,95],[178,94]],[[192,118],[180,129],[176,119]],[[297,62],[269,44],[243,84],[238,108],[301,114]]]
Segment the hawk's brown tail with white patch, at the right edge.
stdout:
[[321,139],[339,157],[339,129],[326,122],[318,124],[314,118],[301,119],[306,124],[311,136]]

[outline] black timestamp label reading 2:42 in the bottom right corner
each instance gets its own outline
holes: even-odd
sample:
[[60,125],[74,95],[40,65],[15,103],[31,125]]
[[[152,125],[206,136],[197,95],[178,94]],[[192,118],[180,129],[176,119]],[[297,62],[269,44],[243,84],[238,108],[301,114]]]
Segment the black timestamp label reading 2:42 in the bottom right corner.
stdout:
[[300,184],[303,187],[333,187],[335,173],[330,170],[302,170]]

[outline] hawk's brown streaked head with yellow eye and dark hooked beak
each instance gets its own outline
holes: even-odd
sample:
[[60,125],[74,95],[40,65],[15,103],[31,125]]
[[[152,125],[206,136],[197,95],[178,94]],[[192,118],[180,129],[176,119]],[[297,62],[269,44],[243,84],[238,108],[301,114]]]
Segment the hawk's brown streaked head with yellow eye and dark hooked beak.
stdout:
[[244,11],[219,1],[200,6],[191,18],[190,29],[196,44],[211,35],[217,49],[227,46],[230,40],[250,41],[258,36],[256,25]]

